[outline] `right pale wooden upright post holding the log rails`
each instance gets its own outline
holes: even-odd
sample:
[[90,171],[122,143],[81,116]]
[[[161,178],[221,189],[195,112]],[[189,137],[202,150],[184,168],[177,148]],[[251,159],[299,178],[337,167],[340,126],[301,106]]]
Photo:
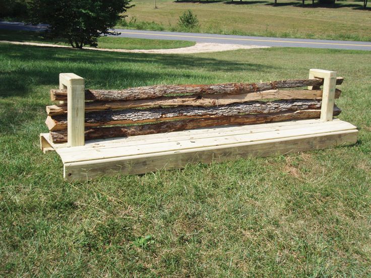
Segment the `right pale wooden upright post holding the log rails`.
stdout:
[[[324,79],[322,90],[321,120],[332,121],[335,104],[336,72],[312,68],[309,70],[309,78]],[[313,90],[313,87],[308,86],[308,90]]]

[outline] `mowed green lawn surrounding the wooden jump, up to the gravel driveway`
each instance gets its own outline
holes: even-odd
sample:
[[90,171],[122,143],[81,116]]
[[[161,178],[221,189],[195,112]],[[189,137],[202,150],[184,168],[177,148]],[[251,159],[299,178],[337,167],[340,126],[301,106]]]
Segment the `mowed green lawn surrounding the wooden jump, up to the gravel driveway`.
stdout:
[[[59,73],[87,88],[345,78],[355,146],[68,183],[42,154]],[[371,273],[371,52],[194,55],[0,44],[0,276],[366,277]],[[147,237],[147,238],[146,238]]]

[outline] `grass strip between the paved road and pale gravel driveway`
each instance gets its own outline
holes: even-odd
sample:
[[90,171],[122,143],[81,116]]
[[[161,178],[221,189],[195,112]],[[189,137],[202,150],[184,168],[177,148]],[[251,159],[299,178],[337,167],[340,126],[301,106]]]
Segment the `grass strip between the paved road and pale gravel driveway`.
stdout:
[[[0,29],[0,40],[70,45],[65,41],[57,41],[44,38],[42,36],[42,33],[39,32],[13,31],[3,29]],[[168,49],[188,47],[193,45],[195,45],[195,42],[178,40],[149,40],[120,37],[100,37],[98,39],[98,48],[109,49]]]

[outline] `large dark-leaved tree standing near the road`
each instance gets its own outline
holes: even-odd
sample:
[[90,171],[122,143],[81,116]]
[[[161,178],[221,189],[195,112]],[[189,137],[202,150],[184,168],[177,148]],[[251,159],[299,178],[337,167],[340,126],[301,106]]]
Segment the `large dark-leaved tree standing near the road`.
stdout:
[[131,0],[33,0],[29,4],[27,23],[48,24],[47,36],[67,39],[75,48],[97,46],[101,35],[118,35],[111,31]]

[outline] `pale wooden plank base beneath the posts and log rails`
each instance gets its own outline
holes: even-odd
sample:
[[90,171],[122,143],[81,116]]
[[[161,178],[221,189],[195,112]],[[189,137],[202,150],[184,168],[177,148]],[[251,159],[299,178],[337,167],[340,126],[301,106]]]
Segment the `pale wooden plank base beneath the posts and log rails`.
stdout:
[[357,134],[348,122],[312,119],[92,140],[71,148],[51,143],[49,133],[42,133],[40,142],[42,149],[58,153],[71,181],[345,146],[356,143]]

